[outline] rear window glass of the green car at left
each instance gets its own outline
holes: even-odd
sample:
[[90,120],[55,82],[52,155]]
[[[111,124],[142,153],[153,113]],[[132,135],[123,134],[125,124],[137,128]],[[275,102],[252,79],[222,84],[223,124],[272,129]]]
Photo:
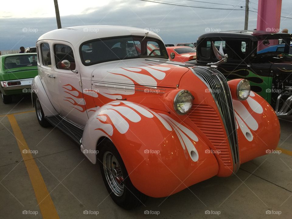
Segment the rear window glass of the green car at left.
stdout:
[[36,66],[36,54],[33,55],[15,55],[5,58],[5,69],[19,68],[26,66]]

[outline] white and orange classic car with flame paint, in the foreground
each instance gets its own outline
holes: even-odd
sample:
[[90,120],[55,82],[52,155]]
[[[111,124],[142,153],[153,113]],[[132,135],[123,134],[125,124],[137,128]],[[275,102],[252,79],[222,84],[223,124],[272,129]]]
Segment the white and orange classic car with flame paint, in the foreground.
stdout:
[[40,36],[36,49],[36,119],[76,141],[125,209],[236,174],[278,144],[278,118],[247,80],[227,82],[216,63],[169,61],[151,31],[63,28]]

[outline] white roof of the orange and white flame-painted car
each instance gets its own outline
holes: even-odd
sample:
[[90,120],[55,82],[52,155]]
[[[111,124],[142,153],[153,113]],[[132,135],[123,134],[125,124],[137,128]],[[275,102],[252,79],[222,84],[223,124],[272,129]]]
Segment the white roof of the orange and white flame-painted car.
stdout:
[[61,28],[57,30],[52,30],[39,37],[39,40],[62,40],[71,43],[74,47],[79,47],[79,45],[85,41],[113,37],[113,36],[145,36],[148,32],[148,37],[158,38],[162,40],[156,33],[140,29],[136,27],[127,26],[74,26]]

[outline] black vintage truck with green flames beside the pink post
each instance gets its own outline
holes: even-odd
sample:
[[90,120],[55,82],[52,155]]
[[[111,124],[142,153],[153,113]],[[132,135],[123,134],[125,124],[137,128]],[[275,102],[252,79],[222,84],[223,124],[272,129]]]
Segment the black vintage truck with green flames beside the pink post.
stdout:
[[[197,39],[196,60],[189,64],[217,62],[214,46],[228,58],[218,65],[227,79],[245,78],[277,115],[292,114],[292,34],[236,30],[211,32]],[[260,47],[260,48],[258,48]]]

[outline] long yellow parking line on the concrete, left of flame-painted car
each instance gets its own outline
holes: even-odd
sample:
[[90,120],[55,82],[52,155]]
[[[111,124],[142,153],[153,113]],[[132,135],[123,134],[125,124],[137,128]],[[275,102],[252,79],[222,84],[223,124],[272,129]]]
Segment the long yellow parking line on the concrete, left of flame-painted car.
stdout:
[[40,174],[36,162],[33,159],[31,153],[23,153],[23,150],[29,151],[29,147],[23,137],[20,127],[13,114],[7,115],[9,122],[11,124],[14,136],[16,138],[20,153],[23,157],[24,163],[26,165],[26,170],[30,176],[30,181],[33,186],[34,193],[36,195],[36,200],[40,207],[40,212],[43,218],[59,218],[57,210],[54,203],[50,197],[47,190],[47,186],[43,181],[43,177]]

